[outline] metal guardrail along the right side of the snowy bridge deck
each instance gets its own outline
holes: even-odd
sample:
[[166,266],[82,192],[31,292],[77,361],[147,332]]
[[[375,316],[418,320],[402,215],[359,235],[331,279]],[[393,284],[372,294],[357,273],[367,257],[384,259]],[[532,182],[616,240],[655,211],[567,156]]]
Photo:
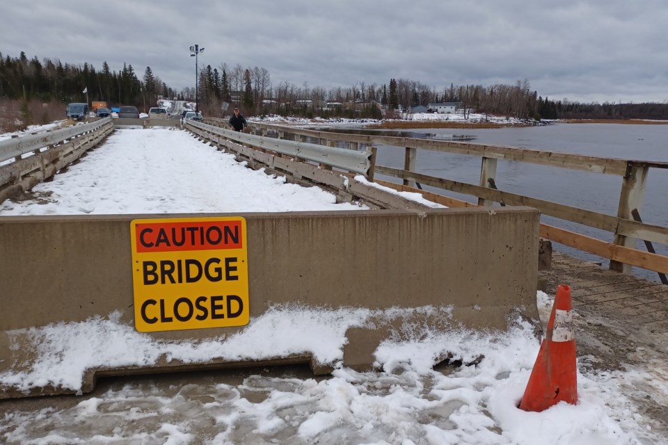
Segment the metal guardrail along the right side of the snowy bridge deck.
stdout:
[[185,126],[196,127],[209,133],[223,136],[229,140],[238,143],[246,143],[260,149],[267,149],[272,152],[285,154],[305,161],[312,161],[329,165],[341,170],[367,175],[369,168],[372,167],[372,150],[355,151],[337,147],[327,147],[294,140],[269,138],[266,136],[257,136],[254,134],[240,133],[214,125],[205,124],[193,120],[188,120]]

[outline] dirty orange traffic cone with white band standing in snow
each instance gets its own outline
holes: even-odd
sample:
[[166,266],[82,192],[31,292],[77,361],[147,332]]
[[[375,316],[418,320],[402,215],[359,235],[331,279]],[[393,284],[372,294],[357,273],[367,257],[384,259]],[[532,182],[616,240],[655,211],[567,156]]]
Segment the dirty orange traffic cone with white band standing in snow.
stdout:
[[520,401],[520,410],[540,412],[560,401],[578,402],[571,288],[563,284],[557,288],[548,332]]

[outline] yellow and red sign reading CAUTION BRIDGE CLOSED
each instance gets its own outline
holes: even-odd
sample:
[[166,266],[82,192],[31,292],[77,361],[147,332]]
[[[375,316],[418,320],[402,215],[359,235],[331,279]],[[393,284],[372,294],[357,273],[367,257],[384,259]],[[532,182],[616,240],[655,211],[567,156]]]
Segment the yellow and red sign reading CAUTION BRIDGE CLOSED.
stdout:
[[246,219],[132,220],[130,235],[136,330],[248,324]]

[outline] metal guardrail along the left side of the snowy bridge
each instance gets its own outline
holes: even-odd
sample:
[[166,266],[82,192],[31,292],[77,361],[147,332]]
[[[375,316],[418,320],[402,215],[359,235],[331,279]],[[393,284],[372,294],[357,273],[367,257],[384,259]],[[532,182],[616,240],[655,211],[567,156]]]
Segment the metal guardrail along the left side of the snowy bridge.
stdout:
[[0,140],[0,162],[34,152],[42,147],[54,145],[65,139],[74,138],[89,131],[95,131],[110,121],[111,118],[104,118],[88,124],[74,125],[55,131],[44,131],[42,133],[20,136],[19,138]]

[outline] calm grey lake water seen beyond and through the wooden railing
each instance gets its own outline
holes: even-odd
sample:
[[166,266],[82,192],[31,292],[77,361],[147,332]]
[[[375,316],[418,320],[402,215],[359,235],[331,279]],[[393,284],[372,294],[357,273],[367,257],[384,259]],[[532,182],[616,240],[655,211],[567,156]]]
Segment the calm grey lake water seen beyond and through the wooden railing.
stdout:
[[[355,131],[358,132],[358,131]],[[367,131],[359,131],[367,133]],[[668,161],[668,125],[635,124],[552,124],[541,127],[502,129],[412,129],[411,131],[382,131],[388,136],[424,137],[440,140],[502,145],[550,152],[584,154],[637,161]],[[401,147],[379,145],[379,165],[403,168],[404,150]],[[417,172],[468,184],[478,184],[480,158],[460,154],[446,154],[418,150]],[[379,179],[397,181],[378,176]],[[496,185],[500,190],[568,204],[609,215],[617,215],[621,177],[580,172],[565,168],[546,167],[515,161],[498,161]],[[424,186],[425,190],[456,197],[468,202],[476,198]],[[646,182],[644,205],[638,209],[644,223],[668,227],[668,170],[651,168]],[[593,229],[577,223],[541,216],[541,222],[563,227],[578,233],[612,241],[610,232]],[[574,257],[597,261],[607,266],[608,261],[568,246],[555,244],[555,250]],[[638,248],[644,250],[640,241]],[[654,245],[660,254],[668,255],[668,246]],[[658,274],[635,268],[634,273],[648,280],[658,281]]]

